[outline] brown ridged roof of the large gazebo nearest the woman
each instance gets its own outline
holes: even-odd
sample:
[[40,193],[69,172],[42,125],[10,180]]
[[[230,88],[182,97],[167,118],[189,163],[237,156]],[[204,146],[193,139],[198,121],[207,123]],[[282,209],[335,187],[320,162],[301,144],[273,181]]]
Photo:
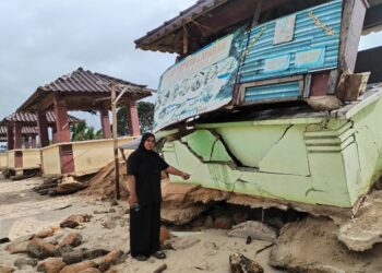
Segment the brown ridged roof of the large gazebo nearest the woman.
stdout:
[[[102,73],[93,73],[89,70],[79,68],[70,74],[62,75],[56,81],[40,86],[37,91],[46,92],[103,92],[109,93],[109,83],[118,84],[118,92],[128,86],[128,93],[136,93],[140,95],[151,95],[152,90],[146,88],[147,85],[139,85],[117,78],[105,75]],[[124,85],[124,86],[120,86]]]

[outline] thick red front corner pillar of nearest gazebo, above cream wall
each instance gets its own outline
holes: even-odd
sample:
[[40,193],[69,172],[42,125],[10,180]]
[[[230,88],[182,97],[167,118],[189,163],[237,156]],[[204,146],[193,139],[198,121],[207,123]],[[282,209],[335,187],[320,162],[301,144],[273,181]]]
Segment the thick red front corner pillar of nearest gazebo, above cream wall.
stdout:
[[68,119],[68,107],[63,98],[55,97],[55,115],[57,143],[70,142],[70,126]]

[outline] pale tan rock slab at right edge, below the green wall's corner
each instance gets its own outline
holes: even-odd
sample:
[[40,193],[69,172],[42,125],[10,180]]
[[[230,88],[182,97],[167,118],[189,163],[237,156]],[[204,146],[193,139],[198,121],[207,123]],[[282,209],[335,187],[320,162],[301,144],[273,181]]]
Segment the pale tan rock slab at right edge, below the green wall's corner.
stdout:
[[357,216],[341,225],[337,237],[354,251],[365,251],[382,242],[382,191],[367,198]]

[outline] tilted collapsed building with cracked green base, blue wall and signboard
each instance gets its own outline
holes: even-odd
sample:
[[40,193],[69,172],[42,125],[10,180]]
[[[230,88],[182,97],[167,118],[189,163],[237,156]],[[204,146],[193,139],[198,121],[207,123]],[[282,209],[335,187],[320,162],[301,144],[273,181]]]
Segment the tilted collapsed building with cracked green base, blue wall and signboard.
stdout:
[[135,40],[178,54],[155,108],[166,161],[259,205],[351,209],[382,169],[381,78],[357,59],[381,4],[201,0]]

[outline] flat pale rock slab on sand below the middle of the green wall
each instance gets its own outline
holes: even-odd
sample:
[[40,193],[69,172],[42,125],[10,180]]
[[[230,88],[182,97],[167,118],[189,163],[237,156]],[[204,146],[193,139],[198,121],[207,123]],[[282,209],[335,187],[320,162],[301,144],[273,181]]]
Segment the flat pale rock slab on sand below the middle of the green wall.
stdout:
[[276,230],[256,221],[247,221],[232,227],[228,233],[229,237],[248,238],[255,240],[274,241],[277,237]]

